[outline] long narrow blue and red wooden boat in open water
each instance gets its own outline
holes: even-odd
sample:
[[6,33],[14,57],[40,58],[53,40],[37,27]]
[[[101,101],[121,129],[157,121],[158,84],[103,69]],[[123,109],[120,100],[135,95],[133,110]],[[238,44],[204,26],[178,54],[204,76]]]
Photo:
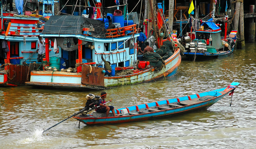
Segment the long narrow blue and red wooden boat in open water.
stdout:
[[112,113],[109,114],[109,117],[104,117],[105,113],[92,112],[92,114],[81,114],[73,116],[73,118],[86,125],[101,125],[147,120],[156,117],[175,116],[205,110],[228,93],[230,93],[229,95],[232,95],[234,89],[239,84],[240,83],[232,82],[228,87],[212,91],[118,108],[115,109],[116,115],[119,115],[116,117],[113,117]]

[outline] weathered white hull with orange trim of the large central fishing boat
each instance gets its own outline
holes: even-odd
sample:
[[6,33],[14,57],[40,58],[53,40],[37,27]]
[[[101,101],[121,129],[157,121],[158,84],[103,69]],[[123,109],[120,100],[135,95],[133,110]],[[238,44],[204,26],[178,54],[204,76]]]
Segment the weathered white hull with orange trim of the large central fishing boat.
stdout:
[[[102,90],[120,85],[131,85],[143,82],[150,82],[158,80],[163,77],[169,77],[177,72],[177,68],[181,62],[180,49],[176,50],[174,54],[165,60],[166,68],[160,72],[155,73],[155,69],[139,71],[130,75],[124,76],[104,76],[104,85],[82,84],[82,75],[79,73],[68,72],[49,72],[49,71],[31,71],[30,81],[26,85],[36,87],[52,87],[52,88],[68,88],[68,89],[96,89]],[[98,76],[95,75],[96,79]]]

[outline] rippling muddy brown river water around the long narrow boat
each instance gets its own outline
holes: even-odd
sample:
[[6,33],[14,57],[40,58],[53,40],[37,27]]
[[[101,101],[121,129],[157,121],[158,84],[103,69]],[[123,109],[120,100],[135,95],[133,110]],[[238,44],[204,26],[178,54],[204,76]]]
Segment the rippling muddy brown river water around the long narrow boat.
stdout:
[[80,128],[70,118],[42,134],[43,129],[81,109],[88,93],[99,95],[100,91],[0,88],[0,148],[254,149],[255,46],[247,44],[226,58],[182,61],[170,78],[106,90],[111,105],[123,107],[241,83],[231,106],[231,97],[225,96],[205,111],[176,117]]

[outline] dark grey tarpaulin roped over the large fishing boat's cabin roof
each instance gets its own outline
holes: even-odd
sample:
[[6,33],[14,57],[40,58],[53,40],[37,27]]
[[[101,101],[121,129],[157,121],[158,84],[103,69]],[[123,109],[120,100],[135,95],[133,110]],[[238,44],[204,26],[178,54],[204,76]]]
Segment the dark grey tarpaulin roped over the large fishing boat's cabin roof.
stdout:
[[44,24],[42,34],[83,34],[83,28],[93,28],[91,36],[105,38],[106,29],[100,20],[85,18],[82,16],[51,16]]

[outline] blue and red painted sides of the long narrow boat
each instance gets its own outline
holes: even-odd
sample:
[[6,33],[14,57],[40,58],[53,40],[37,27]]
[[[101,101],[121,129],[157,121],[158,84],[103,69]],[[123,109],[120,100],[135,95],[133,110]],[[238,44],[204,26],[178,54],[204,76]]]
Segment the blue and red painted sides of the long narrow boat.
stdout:
[[[184,96],[178,98],[180,102],[182,101],[189,101],[189,97],[191,99],[196,99],[198,96],[204,97],[204,96],[212,96],[212,99],[206,99],[204,101],[200,101],[198,103],[194,104],[189,104],[189,105],[184,105],[182,107],[174,107],[170,109],[165,109],[165,110],[159,110],[159,111],[153,111],[153,112],[148,112],[148,113],[141,113],[141,114],[135,114],[135,115],[120,115],[118,117],[100,117],[100,118],[95,118],[92,116],[92,114],[88,115],[78,115],[74,116],[73,118],[77,119],[78,121],[81,121],[84,124],[87,125],[101,125],[101,124],[114,124],[114,123],[124,123],[124,122],[130,122],[130,121],[138,121],[138,120],[147,120],[155,117],[166,117],[166,116],[174,116],[174,115],[179,115],[183,113],[188,113],[188,112],[194,112],[194,111],[199,111],[199,110],[204,110],[216,103],[218,100],[220,100],[222,97],[227,95],[229,92],[232,92],[240,83],[238,82],[232,82],[228,87],[226,88],[220,88],[208,92],[202,92],[198,94],[193,94],[190,96]],[[197,98],[198,99],[198,98]],[[177,98],[169,99],[169,103],[177,103]],[[162,100],[162,101],[156,101],[156,102],[151,102],[147,103],[149,108],[155,108],[156,104],[165,105],[167,104],[167,100]],[[139,105],[133,105],[133,106],[128,106],[128,107],[122,107],[115,109],[115,113],[117,113],[116,110],[122,110],[122,109],[129,109],[130,112],[137,112],[137,109],[139,111],[144,111],[146,110],[146,104],[139,104]],[[136,109],[137,106],[137,109]]]

